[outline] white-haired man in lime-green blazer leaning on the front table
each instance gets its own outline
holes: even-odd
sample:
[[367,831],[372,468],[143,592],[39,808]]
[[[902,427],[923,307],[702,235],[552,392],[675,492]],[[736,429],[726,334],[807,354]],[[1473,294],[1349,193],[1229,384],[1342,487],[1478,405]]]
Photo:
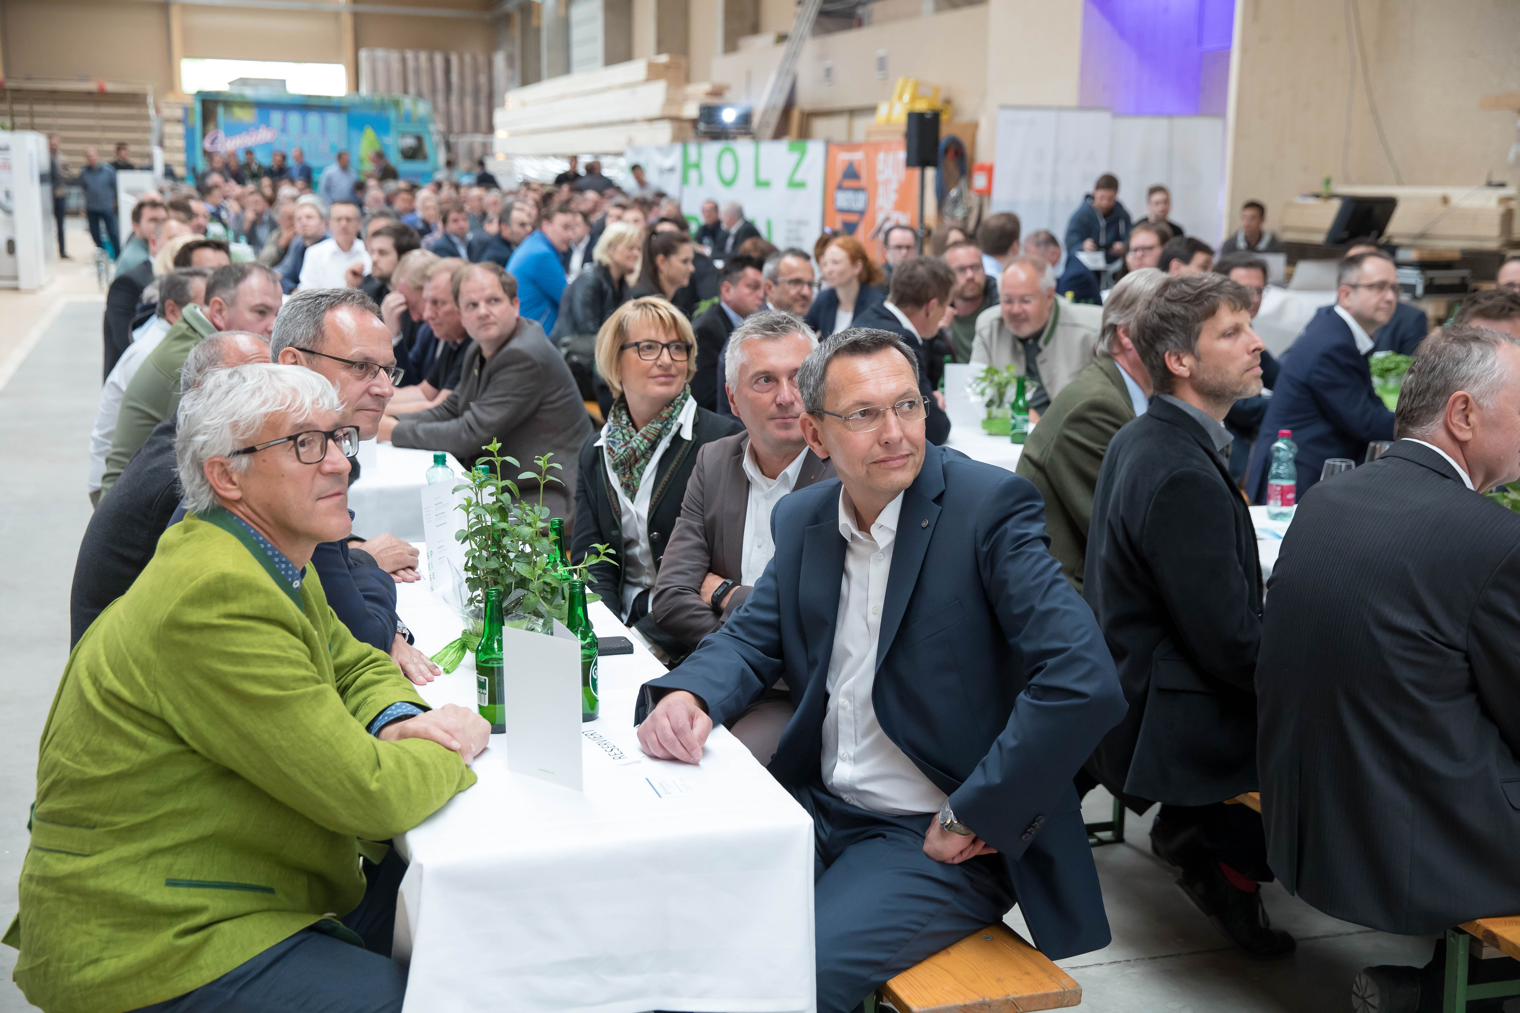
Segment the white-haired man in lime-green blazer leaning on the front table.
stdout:
[[360,846],[474,784],[489,726],[429,711],[307,565],[348,535],[356,439],[299,366],[184,396],[190,515],[81,638],[43,731],[5,942],[47,1013],[401,1008],[400,860]]

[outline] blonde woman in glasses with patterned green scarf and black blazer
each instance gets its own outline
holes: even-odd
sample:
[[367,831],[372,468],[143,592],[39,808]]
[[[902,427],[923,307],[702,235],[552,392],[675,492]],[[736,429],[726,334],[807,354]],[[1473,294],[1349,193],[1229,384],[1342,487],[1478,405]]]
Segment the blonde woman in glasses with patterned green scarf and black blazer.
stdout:
[[613,554],[591,566],[590,589],[675,659],[686,649],[655,626],[649,592],[696,451],[742,427],[692,398],[696,337],[667,299],[620,305],[596,336],[596,369],[616,399],[602,433],[581,448],[570,557],[579,562],[591,545],[608,545]]

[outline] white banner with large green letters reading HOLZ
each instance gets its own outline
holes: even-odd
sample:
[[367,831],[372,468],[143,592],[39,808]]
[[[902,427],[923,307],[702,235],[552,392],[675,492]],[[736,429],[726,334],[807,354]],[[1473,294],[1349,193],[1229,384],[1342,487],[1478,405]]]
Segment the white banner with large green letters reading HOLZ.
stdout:
[[628,164],[644,167],[649,185],[679,197],[693,223],[702,202],[737,200],[745,217],[780,248],[813,249],[824,231],[827,141],[687,141],[629,147]]

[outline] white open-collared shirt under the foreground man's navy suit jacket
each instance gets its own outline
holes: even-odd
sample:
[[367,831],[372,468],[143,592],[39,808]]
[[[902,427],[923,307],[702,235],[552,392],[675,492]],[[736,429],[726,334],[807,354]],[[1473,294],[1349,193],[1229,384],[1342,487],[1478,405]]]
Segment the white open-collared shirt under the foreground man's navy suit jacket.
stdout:
[[903,494],[886,504],[863,535],[854,522],[850,494],[839,491],[839,536],[845,539],[845,573],[839,582],[834,649],[828,655],[828,709],[824,712],[824,787],[850,805],[907,816],[938,813],[945,794],[897,747],[876,720],[877,639],[886,579]]

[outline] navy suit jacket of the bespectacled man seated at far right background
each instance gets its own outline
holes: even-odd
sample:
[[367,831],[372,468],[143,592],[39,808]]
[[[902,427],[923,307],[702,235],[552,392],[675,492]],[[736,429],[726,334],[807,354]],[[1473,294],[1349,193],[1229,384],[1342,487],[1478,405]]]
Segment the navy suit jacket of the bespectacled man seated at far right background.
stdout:
[[1283,358],[1262,437],[1251,451],[1245,483],[1251,503],[1266,503],[1266,472],[1278,430],[1292,430],[1298,443],[1300,500],[1319,481],[1319,469],[1330,457],[1362,463],[1370,442],[1394,439],[1394,413],[1373,390],[1366,357],[1356,351],[1351,328],[1333,305],[1315,313],[1292,351]]

